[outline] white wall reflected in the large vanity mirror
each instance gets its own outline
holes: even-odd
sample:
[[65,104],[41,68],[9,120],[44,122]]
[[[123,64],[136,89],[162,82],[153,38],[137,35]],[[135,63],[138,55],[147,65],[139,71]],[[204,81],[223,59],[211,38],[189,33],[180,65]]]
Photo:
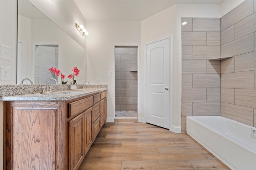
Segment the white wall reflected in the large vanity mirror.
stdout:
[[[26,26],[24,27],[24,23]],[[47,25],[47,27],[46,27]],[[58,69],[68,77],[72,68],[78,67],[80,75],[76,77],[78,84],[86,79],[86,50],[48,19],[29,19],[19,16],[18,40],[26,42],[26,54],[24,55],[23,78],[30,78],[34,82],[34,45],[59,45]],[[20,29],[24,28],[24,29]],[[65,78],[64,81],[70,81]],[[61,82],[59,77],[59,83]],[[69,84],[69,83],[68,83]]]

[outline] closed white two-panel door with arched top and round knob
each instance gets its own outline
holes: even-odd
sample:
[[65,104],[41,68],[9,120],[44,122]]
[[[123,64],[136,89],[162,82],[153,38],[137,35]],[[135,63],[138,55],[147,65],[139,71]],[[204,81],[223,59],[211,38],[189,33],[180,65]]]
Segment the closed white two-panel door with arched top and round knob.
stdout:
[[146,122],[170,129],[170,37],[146,44]]

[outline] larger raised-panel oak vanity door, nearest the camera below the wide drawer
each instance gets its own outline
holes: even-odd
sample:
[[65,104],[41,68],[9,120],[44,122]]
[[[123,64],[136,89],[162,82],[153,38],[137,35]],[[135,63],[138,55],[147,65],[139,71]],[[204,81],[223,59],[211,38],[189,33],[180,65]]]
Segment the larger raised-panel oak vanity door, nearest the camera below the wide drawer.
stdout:
[[69,169],[76,170],[85,155],[85,117],[84,112],[69,121]]

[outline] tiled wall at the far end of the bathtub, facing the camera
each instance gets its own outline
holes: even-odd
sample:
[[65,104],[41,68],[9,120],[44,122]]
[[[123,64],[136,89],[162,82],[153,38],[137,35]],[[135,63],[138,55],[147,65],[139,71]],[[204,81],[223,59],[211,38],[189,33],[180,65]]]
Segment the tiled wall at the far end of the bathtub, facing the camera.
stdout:
[[220,115],[220,18],[182,18],[182,132],[186,116]]

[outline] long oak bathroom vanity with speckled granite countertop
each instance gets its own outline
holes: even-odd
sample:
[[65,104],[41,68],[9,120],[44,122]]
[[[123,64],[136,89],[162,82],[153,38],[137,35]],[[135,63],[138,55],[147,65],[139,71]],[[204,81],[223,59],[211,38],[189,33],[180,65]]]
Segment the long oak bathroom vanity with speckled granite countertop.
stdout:
[[106,89],[3,97],[4,169],[78,169],[106,122]]

